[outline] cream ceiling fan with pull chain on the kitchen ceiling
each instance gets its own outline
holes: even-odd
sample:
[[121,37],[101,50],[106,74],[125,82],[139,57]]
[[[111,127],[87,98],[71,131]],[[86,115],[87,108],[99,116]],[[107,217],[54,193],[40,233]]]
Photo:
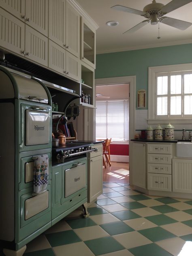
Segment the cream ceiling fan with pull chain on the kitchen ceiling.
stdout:
[[111,9],[115,9],[117,11],[124,11],[127,13],[134,13],[147,18],[144,21],[137,24],[136,26],[134,26],[133,28],[130,28],[129,30],[125,31],[124,33],[135,32],[139,28],[142,28],[143,26],[145,26],[147,23],[151,23],[151,25],[156,25],[158,22],[164,23],[174,28],[178,28],[180,30],[185,30],[189,26],[191,26],[192,23],[187,21],[182,21],[179,19],[165,17],[164,15],[190,2],[192,2],[192,0],[172,0],[168,4],[164,5],[161,3],[157,3],[156,0],[152,0],[152,4],[147,4],[143,8],[143,11],[132,9],[122,5],[112,6]]

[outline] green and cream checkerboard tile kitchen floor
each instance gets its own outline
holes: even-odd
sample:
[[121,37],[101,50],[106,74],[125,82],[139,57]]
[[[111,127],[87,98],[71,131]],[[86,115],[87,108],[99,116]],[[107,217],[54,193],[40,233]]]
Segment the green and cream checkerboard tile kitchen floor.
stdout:
[[88,218],[64,218],[24,256],[192,256],[192,200],[103,183]]

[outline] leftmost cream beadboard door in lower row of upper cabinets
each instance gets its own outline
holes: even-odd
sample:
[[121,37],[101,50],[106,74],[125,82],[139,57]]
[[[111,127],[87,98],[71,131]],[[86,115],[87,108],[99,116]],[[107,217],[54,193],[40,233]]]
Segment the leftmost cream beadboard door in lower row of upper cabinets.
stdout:
[[0,46],[22,55],[25,42],[25,24],[0,8]]

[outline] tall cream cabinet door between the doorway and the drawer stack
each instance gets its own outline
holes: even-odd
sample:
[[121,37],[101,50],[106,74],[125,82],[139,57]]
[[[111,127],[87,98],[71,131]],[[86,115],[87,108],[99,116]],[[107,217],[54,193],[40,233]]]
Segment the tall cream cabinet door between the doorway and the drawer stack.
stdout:
[[132,177],[133,185],[146,188],[146,144],[132,143]]

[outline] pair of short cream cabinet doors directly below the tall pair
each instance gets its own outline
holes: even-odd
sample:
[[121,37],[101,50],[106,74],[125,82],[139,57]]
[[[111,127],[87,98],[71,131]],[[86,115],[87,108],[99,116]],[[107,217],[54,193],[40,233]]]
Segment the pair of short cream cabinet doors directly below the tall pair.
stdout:
[[77,81],[81,77],[79,59],[49,40],[49,68]]

